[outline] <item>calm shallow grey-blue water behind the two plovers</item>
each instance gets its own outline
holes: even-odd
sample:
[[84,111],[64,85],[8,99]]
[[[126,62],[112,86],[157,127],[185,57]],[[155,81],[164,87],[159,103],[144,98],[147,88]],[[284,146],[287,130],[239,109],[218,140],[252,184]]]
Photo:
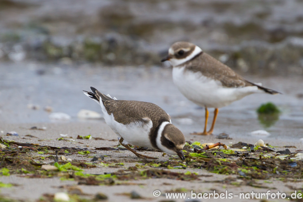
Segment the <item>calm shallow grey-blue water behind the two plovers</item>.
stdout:
[[[49,113],[43,110],[45,106],[51,106],[53,112],[69,114],[72,122],[103,121],[77,118],[81,109],[102,113],[100,107],[82,93],[82,90],[90,90],[89,87],[93,86],[118,99],[158,104],[184,133],[201,131],[204,126],[204,109],[188,101],[178,91],[172,82],[171,68],[101,67],[92,64],[68,66],[33,62],[0,63],[0,68],[0,123],[51,122]],[[225,132],[231,137],[239,137],[265,129],[271,135],[262,139],[302,138],[303,99],[299,94],[303,93],[303,78],[244,76],[249,81],[262,82],[264,86],[283,94],[253,94],[221,108],[214,133]],[[278,105],[282,113],[274,125],[264,128],[255,111],[268,101]],[[40,108],[32,110],[28,104],[39,105]],[[212,111],[210,109],[209,122]]]

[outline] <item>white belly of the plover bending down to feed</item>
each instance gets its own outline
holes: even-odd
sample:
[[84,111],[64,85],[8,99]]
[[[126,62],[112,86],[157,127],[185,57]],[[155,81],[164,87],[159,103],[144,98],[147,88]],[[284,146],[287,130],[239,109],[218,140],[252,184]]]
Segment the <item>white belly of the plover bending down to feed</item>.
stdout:
[[151,146],[148,137],[153,126],[151,120],[147,123],[140,121],[124,125],[115,121],[114,115],[108,114],[103,103],[100,102],[100,104],[106,124],[108,124],[108,126],[112,128],[112,130],[118,135],[118,137],[123,137],[123,143],[155,149]]

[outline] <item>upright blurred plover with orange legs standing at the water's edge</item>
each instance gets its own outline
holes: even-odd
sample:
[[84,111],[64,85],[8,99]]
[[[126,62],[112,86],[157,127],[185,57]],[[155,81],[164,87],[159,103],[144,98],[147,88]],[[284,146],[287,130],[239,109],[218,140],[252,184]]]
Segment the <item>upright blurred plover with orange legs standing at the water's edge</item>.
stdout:
[[[245,80],[231,68],[192,43],[184,41],[174,43],[168,50],[168,56],[161,61],[167,60],[173,66],[173,81],[181,93],[195,104],[205,107],[204,131],[195,134],[212,134],[218,108],[253,93],[279,93]],[[214,119],[209,131],[206,130],[208,107],[215,108]]]

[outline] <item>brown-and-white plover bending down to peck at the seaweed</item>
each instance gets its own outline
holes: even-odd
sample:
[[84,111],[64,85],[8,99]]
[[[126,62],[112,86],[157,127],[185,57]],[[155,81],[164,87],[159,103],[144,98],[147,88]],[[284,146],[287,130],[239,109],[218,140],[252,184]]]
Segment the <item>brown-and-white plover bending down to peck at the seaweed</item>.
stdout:
[[177,154],[182,160],[185,159],[182,152],[184,135],[171,124],[170,116],[159,106],[149,102],[117,100],[93,87],[91,90],[84,94],[101,106],[106,124],[120,137],[122,146],[139,158],[156,159],[138,154],[127,144]]

